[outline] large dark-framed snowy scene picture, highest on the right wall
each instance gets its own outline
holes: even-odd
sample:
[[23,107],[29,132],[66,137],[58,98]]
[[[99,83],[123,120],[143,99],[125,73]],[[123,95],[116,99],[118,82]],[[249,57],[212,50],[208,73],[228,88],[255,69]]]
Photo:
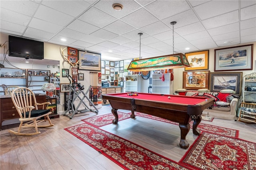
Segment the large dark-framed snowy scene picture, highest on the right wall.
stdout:
[[253,44],[214,50],[214,71],[252,70]]

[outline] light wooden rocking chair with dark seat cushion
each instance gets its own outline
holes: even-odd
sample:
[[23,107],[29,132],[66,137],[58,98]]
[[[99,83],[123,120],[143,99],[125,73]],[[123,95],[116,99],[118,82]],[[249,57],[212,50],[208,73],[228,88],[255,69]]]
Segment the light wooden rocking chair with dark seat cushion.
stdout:
[[[50,102],[37,103],[36,97],[32,90],[25,87],[16,88],[12,91],[12,102],[16,107],[20,115],[20,126],[18,132],[10,130],[10,133],[15,135],[36,135],[40,133],[38,127],[51,127],[54,126],[49,118],[49,114],[52,113],[50,109],[46,109]],[[32,106],[32,102],[34,106]],[[38,109],[38,106],[42,106],[42,109]],[[44,117],[44,119],[42,119]],[[40,119],[41,118],[41,119]],[[46,118],[46,119],[45,119]],[[39,120],[38,120],[39,119]],[[38,123],[46,122],[46,125],[38,125]],[[34,133],[20,133],[22,128],[34,127],[36,132]]]

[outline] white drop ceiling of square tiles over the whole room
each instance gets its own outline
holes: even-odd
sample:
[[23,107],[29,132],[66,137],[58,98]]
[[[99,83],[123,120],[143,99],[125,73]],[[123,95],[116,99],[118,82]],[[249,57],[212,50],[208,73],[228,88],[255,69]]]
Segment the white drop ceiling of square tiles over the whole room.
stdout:
[[256,0],[1,0],[0,7],[1,33],[112,61],[172,54],[172,21],[174,53],[256,42]]

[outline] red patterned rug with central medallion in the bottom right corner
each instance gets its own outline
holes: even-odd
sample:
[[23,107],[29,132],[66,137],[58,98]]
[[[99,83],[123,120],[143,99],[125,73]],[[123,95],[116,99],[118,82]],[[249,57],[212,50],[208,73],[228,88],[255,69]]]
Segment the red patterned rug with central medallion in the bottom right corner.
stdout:
[[256,143],[204,132],[180,163],[201,170],[256,170]]

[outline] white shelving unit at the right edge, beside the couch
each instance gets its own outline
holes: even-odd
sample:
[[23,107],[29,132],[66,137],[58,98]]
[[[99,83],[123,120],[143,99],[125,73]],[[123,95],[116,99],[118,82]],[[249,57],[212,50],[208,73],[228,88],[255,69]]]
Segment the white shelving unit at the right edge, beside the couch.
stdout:
[[244,76],[244,92],[243,102],[255,102],[256,103],[256,89],[250,91],[252,87],[256,88],[256,73],[247,74]]

